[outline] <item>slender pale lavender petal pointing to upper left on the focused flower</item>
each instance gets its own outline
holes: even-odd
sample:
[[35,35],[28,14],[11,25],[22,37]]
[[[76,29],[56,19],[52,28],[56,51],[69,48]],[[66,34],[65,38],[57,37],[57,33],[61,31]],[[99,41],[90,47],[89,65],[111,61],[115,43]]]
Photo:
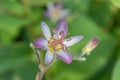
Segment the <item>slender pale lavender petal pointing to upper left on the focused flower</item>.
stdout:
[[51,33],[48,25],[45,22],[41,22],[41,26],[42,26],[42,31],[45,35],[45,38],[49,39],[51,37]]

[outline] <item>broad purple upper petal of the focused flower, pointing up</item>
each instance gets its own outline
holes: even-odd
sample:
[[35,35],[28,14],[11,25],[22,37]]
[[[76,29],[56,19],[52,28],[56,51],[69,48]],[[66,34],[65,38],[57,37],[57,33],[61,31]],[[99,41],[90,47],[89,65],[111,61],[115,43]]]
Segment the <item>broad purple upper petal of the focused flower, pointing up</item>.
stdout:
[[63,38],[67,35],[68,26],[65,21],[61,21],[55,28],[54,32],[57,36],[62,36]]

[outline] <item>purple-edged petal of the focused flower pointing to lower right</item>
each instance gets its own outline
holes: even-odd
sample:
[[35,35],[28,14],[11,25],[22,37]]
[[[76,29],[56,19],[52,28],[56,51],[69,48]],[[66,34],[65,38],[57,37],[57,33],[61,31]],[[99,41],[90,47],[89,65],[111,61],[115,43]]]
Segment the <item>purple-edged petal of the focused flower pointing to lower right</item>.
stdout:
[[58,53],[55,53],[59,59],[70,64],[72,62],[72,55],[68,51],[60,50]]

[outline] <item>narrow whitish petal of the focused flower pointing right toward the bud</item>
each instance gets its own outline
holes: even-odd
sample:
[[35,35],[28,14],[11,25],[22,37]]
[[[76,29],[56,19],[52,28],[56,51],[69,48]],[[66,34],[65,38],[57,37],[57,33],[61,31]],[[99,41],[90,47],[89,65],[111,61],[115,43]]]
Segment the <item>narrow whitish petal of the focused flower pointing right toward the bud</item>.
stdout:
[[79,42],[80,40],[82,40],[82,39],[83,39],[83,36],[71,37],[71,38],[69,38],[69,39],[65,39],[65,40],[63,41],[63,44],[66,45],[67,47],[69,47],[69,46],[72,46],[72,45],[78,43],[78,42]]

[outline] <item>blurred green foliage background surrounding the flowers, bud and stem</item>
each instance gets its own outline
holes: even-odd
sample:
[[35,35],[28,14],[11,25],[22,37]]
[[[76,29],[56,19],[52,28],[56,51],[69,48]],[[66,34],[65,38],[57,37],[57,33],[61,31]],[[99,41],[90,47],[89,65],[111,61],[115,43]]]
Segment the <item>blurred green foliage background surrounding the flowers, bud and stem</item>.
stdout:
[[56,61],[43,80],[120,80],[120,0],[0,0],[0,80],[34,80],[37,59],[29,43],[43,36],[41,21],[51,31],[58,24],[44,17],[49,1],[70,9],[68,37],[85,37],[70,47],[72,55],[95,36],[100,43],[86,61]]

